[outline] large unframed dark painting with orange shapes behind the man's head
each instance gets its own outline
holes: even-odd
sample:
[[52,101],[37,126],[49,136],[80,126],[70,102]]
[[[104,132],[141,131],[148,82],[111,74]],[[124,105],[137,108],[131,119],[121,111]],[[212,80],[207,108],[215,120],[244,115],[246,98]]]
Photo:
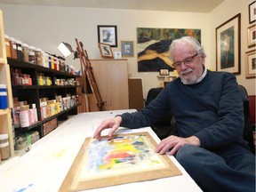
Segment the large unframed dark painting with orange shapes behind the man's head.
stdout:
[[201,30],[192,28],[137,28],[139,72],[172,71],[169,46],[182,36],[194,36],[201,43]]

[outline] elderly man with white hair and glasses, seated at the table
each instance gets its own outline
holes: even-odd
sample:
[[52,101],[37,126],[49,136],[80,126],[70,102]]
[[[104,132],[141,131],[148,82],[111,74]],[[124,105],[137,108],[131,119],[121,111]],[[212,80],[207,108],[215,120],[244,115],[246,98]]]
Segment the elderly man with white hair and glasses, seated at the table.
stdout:
[[134,113],[105,120],[94,133],[119,126],[140,128],[154,124],[171,110],[179,136],[170,136],[156,153],[176,156],[205,191],[255,190],[255,158],[243,140],[243,103],[236,76],[205,68],[204,48],[185,36],[170,45],[170,59],[179,78],[167,84],[156,100]]

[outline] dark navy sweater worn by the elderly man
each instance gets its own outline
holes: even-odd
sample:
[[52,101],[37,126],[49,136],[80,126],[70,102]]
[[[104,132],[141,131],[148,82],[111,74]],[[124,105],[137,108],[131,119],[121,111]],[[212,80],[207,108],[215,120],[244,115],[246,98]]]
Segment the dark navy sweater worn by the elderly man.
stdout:
[[121,115],[121,126],[150,126],[169,110],[175,117],[179,136],[195,135],[202,148],[246,145],[243,101],[233,74],[208,70],[201,82],[191,85],[176,78],[148,107]]

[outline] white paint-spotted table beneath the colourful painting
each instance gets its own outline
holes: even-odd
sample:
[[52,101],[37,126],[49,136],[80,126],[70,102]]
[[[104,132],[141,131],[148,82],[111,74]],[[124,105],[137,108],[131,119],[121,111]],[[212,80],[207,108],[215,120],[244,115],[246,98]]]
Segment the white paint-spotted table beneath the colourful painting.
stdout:
[[[36,191],[56,192],[65,179],[79,149],[86,137],[92,137],[102,120],[124,112],[135,110],[116,110],[78,114],[60,124],[57,129],[32,145],[24,156],[16,156],[0,165],[0,191]],[[117,132],[149,132],[158,143],[155,132],[149,127],[140,129],[121,128]],[[107,135],[104,130],[102,135]],[[182,175],[143,182],[133,182],[108,188],[96,188],[86,191],[202,191],[177,160],[170,156]]]

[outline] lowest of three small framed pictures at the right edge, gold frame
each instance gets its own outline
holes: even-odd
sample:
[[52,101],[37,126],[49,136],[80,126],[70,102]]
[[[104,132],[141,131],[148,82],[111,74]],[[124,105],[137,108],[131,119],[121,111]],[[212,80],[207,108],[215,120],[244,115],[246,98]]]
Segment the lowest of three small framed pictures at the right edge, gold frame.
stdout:
[[256,75],[256,50],[245,52],[245,77],[255,78]]

